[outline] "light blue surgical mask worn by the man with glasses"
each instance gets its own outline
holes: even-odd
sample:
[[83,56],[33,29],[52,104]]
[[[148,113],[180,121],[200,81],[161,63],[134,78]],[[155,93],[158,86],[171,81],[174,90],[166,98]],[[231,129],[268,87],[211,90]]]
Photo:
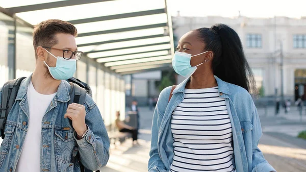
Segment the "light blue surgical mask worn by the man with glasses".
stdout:
[[48,53],[57,59],[55,67],[50,67],[45,61],[43,61],[54,79],[67,80],[74,75],[75,70],[77,70],[77,61],[75,59],[66,60],[63,57],[55,57],[52,53]]

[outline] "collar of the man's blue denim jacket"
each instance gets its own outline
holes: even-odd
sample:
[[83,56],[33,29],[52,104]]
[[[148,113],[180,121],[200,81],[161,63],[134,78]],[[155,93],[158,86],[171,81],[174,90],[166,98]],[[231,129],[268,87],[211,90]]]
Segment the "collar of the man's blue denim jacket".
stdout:
[[[22,100],[24,99],[25,95],[27,95],[32,75],[33,74],[31,74],[30,77],[25,78],[20,84],[16,100]],[[61,84],[59,85],[58,91],[56,93],[55,99],[63,103],[68,102],[70,100],[69,90],[70,90],[70,84],[62,80]]]

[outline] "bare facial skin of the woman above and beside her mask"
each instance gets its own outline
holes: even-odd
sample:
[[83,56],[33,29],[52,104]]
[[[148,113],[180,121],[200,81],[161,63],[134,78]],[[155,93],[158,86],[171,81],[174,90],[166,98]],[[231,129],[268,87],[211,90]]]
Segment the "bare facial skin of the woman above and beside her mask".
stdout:
[[[198,32],[197,31],[190,31],[182,36],[182,38],[179,41],[179,44],[176,47],[177,52],[182,53],[188,53],[191,54],[191,56],[206,52],[205,51],[205,43],[201,41],[198,38]],[[196,66],[199,65],[205,60],[207,60],[207,63],[199,65],[197,70],[194,72],[194,75],[197,75],[200,71],[202,71],[204,68],[208,67],[208,64],[211,64],[211,58],[213,54],[212,52],[207,52],[198,56],[191,57],[190,65]]]

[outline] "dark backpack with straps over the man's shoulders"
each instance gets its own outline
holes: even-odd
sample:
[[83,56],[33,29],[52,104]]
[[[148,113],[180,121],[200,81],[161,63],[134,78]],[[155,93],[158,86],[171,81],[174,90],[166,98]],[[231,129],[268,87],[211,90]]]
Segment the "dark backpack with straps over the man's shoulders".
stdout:
[[[10,80],[6,82],[3,86],[2,90],[2,104],[1,104],[1,118],[0,118],[0,130],[1,130],[1,137],[4,139],[4,128],[5,128],[5,122],[8,117],[8,114],[12,108],[12,106],[15,103],[15,99],[18,93],[18,89],[20,87],[21,82],[25,79],[25,77],[18,78],[15,80]],[[92,91],[88,84],[76,79],[76,78],[70,78],[66,80],[69,82],[71,89],[69,92],[70,95],[70,101],[69,104],[72,103],[78,103],[83,105],[85,101],[86,94],[92,96]],[[68,118],[69,119],[69,118]],[[69,119],[69,123],[72,127],[72,121]],[[77,147],[77,145],[75,145]],[[78,161],[80,163],[81,172],[87,171],[87,169],[84,168],[82,163],[80,162],[80,154],[79,152],[77,154],[72,155],[72,161],[75,163]],[[99,170],[97,170],[98,172]]]

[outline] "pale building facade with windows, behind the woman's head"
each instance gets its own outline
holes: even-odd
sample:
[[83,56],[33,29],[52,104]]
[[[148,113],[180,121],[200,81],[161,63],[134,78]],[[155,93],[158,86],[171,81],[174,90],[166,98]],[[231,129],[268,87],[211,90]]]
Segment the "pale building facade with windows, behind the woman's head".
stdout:
[[[247,18],[243,16],[225,18],[172,17],[177,41],[186,32],[224,23],[240,36],[244,52],[253,69],[258,88],[263,84],[265,95],[281,94],[281,44],[284,55],[284,95],[293,99],[295,92],[303,94],[306,84],[306,17]],[[177,42],[176,42],[177,44]],[[301,69],[301,70],[300,70]],[[181,82],[183,78],[179,79]],[[305,87],[306,88],[306,87]]]

